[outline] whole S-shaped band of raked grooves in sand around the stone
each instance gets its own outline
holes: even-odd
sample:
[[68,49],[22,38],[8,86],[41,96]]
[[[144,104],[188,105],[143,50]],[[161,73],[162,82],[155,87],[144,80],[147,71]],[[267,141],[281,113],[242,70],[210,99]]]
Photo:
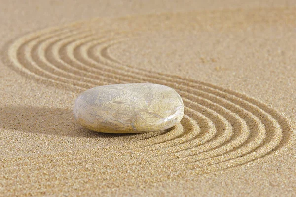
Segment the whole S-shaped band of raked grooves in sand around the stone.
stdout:
[[[208,13],[208,17],[227,17],[228,12]],[[85,153],[95,154],[98,150],[75,151],[67,162],[89,159],[101,163],[102,168],[108,163],[108,175],[114,179],[120,180],[115,171],[121,170],[122,178],[127,171],[135,176],[141,171],[144,178],[149,177],[147,181],[154,182],[168,176],[186,176],[192,170],[203,174],[243,165],[287,144],[292,133],[289,121],[262,102],[213,84],[126,65],[112,57],[112,46],[151,29],[178,32],[201,31],[207,25],[212,25],[213,31],[221,28],[219,23],[213,22],[215,20],[210,20],[213,24],[198,21],[198,14],[94,19],[34,32],[9,46],[6,58],[14,68],[57,87],[82,91],[98,85],[151,82],[170,86],[182,96],[185,116],[175,128],[146,134],[121,146],[102,148],[98,158],[85,158]],[[258,23],[274,22],[272,16],[266,16]],[[104,27],[110,28],[101,31]],[[62,157],[67,152],[58,155]],[[41,159],[45,161],[47,156]],[[19,162],[26,165],[28,161]],[[155,170],[154,175],[150,174],[151,168]],[[104,169],[99,172],[105,173]],[[135,181],[131,180],[129,184],[136,184]],[[104,182],[104,185],[108,183]]]

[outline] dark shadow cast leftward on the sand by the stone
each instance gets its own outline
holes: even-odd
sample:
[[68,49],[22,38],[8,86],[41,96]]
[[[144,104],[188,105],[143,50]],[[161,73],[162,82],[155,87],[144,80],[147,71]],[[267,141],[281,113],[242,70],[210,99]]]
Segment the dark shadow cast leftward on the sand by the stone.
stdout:
[[109,134],[91,131],[76,123],[72,109],[32,106],[0,107],[0,128],[45,135],[87,138],[133,138],[142,135]]

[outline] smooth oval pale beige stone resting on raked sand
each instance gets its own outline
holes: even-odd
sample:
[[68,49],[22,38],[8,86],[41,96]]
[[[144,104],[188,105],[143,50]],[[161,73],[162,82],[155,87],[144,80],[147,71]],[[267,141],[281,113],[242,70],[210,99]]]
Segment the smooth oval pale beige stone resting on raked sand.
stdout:
[[103,133],[143,133],[181,121],[184,104],[172,88],[152,83],[104,85],[86,90],[74,104],[74,118]]

